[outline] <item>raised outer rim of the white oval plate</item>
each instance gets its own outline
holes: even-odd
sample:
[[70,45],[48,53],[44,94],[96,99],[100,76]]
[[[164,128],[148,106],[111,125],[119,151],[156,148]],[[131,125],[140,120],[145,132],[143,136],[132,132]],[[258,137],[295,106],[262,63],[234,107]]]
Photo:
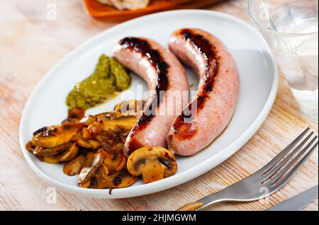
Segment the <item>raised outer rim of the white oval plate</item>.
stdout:
[[[235,23],[240,23],[241,25],[245,26],[248,30],[251,30],[253,33],[261,37],[262,41],[265,43],[265,46],[267,47],[267,51],[268,51],[267,53],[269,53],[269,57],[274,66],[274,71],[272,72],[273,74],[272,88],[269,91],[269,96],[264,104],[264,107],[262,108],[262,110],[260,110],[256,119],[245,130],[245,132],[243,132],[239,137],[237,137],[237,139],[235,139],[235,141],[232,144],[225,147],[223,151],[220,151],[214,157],[208,158],[206,161],[203,161],[202,163],[198,164],[197,166],[194,166],[193,168],[187,171],[179,173],[178,175],[174,175],[170,178],[165,178],[164,180],[161,180],[160,182],[133,186],[133,187],[130,187],[130,190],[127,190],[128,188],[115,189],[112,191],[112,195],[108,194],[109,190],[91,190],[91,189],[74,187],[72,185],[62,183],[58,180],[55,180],[54,178],[51,178],[49,175],[41,171],[40,168],[38,168],[38,166],[35,165],[29,152],[26,150],[23,144],[22,133],[23,133],[24,126],[26,124],[24,122],[26,120],[26,111],[28,111],[28,108],[30,108],[30,100],[34,98],[35,93],[38,92],[38,89],[41,86],[43,86],[43,83],[45,83],[45,81],[52,76],[50,74],[55,74],[55,71],[59,69],[59,67],[61,67],[60,65],[64,64],[69,58],[72,58],[74,54],[77,54],[77,52],[82,51],[82,49],[86,45],[89,45],[89,42],[94,42],[95,40],[98,40],[102,35],[104,35],[104,33],[111,33],[113,32],[113,30],[121,29],[123,26],[129,25],[130,23],[147,20],[147,18],[152,18],[157,16],[171,16],[171,15],[177,16],[177,14],[185,14],[185,13],[186,14],[201,13],[203,15],[204,14],[207,14],[208,16],[213,15],[213,16],[226,18],[230,21],[235,21]],[[81,196],[93,197],[93,198],[103,198],[103,199],[121,199],[125,197],[138,197],[142,195],[149,195],[155,192],[161,192],[163,190],[167,190],[169,188],[174,188],[174,187],[177,187],[178,185],[189,182],[189,180],[193,180],[194,178],[197,178],[198,176],[203,175],[203,173],[211,171],[211,169],[215,168],[220,163],[223,163],[223,161],[228,159],[230,156],[233,156],[233,154],[235,154],[238,150],[240,150],[240,148],[254,136],[254,134],[257,132],[257,130],[262,126],[262,124],[266,120],[270,110],[272,110],[272,105],[274,104],[274,100],[276,99],[278,87],[279,87],[279,67],[276,64],[276,59],[274,59],[274,56],[271,50],[269,49],[267,43],[264,41],[264,38],[262,37],[262,35],[258,32],[257,29],[255,29],[249,23],[246,23],[245,21],[242,21],[239,18],[236,18],[235,16],[230,16],[225,13],[220,13],[216,11],[207,11],[207,10],[201,10],[201,9],[186,9],[186,10],[174,10],[174,11],[153,13],[147,16],[142,16],[140,18],[135,18],[133,20],[126,21],[125,23],[115,25],[112,28],[108,28],[107,30],[102,31],[98,35],[91,37],[89,40],[86,40],[81,45],[75,47],[74,50],[66,54],[65,57],[62,57],[62,59],[60,59],[60,61],[57,62],[57,64],[55,64],[54,67],[52,67],[49,71],[47,71],[47,73],[45,73],[43,78],[40,79],[38,84],[30,93],[30,96],[28,97],[26,105],[23,108],[23,113],[21,115],[20,127],[19,127],[19,141],[20,141],[21,151],[23,152],[23,156],[24,158],[26,158],[28,165],[30,166],[30,168],[33,170],[33,172],[36,175],[38,175],[46,183],[49,183],[50,185],[53,185],[54,187],[60,190],[63,190],[65,192],[69,192],[74,195],[81,195]]]

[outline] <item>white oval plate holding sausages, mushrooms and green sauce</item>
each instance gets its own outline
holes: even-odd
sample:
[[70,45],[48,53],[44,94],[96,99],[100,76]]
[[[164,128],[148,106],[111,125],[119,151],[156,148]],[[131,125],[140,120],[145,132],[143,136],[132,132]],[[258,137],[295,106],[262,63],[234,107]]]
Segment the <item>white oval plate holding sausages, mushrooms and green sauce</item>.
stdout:
[[[65,98],[78,81],[94,70],[102,53],[112,55],[113,46],[125,36],[150,37],[167,46],[169,36],[179,28],[201,28],[218,36],[235,57],[240,70],[240,100],[233,120],[223,134],[206,150],[189,158],[178,158],[179,171],[171,178],[155,183],[138,181],[129,188],[91,190],[77,186],[77,176],[67,176],[62,165],[50,165],[39,161],[26,151],[25,144],[33,132],[46,125],[60,124],[67,117]],[[198,83],[195,74],[188,70],[189,83]],[[117,25],[97,35],[72,51],[40,81],[24,109],[20,126],[21,149],[26,161],[36,174],[57,188],[76,195],[95,198],[123,198],[147,195],[181,185],[210,171],[240,149],[262,125],[272,108],[279,82],[274,58],[257,30],[237,18],[212,11],[186,10],[157,13]],[[133,75],[130,95],[138,85],[147,85]],[[130,96],[131,98],[133,96]],[[123,95],[89,110],[89,114],[112,110]]]

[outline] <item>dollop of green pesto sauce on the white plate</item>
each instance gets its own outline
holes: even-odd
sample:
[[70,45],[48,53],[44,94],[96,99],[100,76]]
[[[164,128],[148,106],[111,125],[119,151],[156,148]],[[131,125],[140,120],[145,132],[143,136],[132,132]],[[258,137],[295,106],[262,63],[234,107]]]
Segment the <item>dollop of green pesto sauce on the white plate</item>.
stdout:
[[67,96],[67,107],[94,107],[108,98],[116,96],[130,86],[130,76],[123,66],[115,59],[102,54],[99,63],[91,76],[77,83]]

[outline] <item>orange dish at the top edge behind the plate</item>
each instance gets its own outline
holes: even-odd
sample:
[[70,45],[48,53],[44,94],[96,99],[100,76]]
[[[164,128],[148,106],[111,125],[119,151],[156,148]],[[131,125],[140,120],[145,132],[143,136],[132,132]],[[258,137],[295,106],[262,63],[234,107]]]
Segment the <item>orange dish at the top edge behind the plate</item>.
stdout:
[[218,1],[220,0],[152,0],[145,8],[120,11],[112,6],[100,4],[96,0],[83,0],[86,11],[96,18],[135,17],[174,8],[198,8]]

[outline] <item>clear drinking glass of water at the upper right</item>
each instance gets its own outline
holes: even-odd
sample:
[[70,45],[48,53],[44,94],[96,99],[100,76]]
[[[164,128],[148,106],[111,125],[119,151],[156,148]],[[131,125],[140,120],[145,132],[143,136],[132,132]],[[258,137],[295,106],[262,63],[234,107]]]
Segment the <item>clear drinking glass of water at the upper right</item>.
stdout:
[[318,123],[318,0],[249,0],[303,115]]

